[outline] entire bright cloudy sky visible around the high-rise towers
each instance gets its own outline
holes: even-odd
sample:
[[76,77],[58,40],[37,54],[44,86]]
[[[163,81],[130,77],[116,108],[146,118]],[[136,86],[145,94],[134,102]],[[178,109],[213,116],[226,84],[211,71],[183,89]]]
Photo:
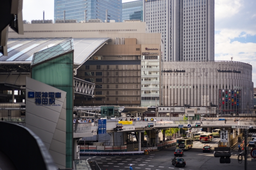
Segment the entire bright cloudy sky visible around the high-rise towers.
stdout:
[[[131,2],[134,0],[122,0]],[[215,0],[215,60],[252,65],[256,87],[256,0]],[[23,0],[23,19],[54,19],[54,0]]]

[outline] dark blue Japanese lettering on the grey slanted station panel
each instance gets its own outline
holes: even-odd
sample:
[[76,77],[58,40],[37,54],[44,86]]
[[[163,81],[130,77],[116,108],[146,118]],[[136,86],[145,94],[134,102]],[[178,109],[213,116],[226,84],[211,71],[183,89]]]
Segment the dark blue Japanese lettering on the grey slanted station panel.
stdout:
[[36,106],[60,106],[55,98],[61,98],[60,92],[28,92],[28,98],[35,98]]

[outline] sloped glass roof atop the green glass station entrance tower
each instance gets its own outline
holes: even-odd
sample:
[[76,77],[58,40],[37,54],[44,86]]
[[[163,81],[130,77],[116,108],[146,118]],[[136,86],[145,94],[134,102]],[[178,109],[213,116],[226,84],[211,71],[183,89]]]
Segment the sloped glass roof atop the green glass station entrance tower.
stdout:
[[50,58],[56,57],[58,55],[61,55],[63,53],[67,53],[71,50],[74,50],[73,39],[60,43],[48,49],[38,51],[33,55],[31,66],[34,64],[41,63],[42,61],[46,61]]

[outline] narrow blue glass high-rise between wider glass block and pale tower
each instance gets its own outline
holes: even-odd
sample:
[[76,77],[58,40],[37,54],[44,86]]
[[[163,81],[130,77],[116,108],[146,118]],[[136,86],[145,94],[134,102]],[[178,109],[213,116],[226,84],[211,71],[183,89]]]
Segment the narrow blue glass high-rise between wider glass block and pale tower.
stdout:
[[143,0],[122,3],[122,21],[143,21]]

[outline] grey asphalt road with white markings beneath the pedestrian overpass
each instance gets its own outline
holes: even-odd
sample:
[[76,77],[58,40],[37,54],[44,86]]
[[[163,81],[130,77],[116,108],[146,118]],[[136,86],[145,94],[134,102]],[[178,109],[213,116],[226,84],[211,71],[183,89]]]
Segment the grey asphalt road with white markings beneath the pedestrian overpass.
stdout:
[[[220,158],[214,158],[214,147],[217,147],[220,138],[214,140],[208,145],[212,146],[212,152],[203,153],[204,143],[194,141],[193,148],[184,151],[183,158],[186,161],[185,167],[174,167],[171,159],[174,158],[175,147],[160,151],[149,152],[148,155],[134,156],[80,156],[80,159],[88,161],[96,160],[102,170],[128,170],[129,165],[133,164],[134,170],[244,170],[244,160],[242,164],[238,163],[237,155],[231,156],[230,164],[220,164]],[[238,149],[231,150],[232,154],[238,154]],[[94,165],[92,164],[92,169]],[[251,162],[248,158],[248,170],[255,170],[256,162]]]

